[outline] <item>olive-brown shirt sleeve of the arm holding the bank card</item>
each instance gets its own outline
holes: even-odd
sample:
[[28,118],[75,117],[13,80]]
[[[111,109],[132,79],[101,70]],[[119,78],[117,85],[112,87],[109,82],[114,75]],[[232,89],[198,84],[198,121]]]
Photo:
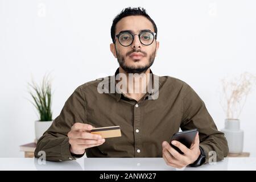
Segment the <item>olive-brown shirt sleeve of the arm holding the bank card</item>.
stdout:
[[72,155],[69,147],[68,132],[75,122],[85,123],[85,100],[81,89],[78,87],[75,92],[65,102],[61,113],[54,119],[52,125],[38,140],[34,152],[35,157],[39,158],[44,151],[46,160],[64,161],[73,160],[82,155]]

